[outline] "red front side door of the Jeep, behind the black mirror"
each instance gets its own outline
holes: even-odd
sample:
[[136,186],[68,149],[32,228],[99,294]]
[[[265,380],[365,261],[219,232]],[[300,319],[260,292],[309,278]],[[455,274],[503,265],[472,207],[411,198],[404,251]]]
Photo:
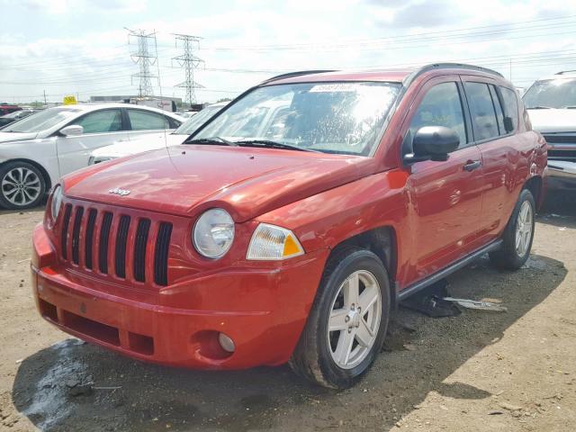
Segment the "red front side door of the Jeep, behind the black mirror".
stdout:
[[424,126],[445,126],[460,137],[459,147],[448,160],[417,162],[410,168],[412,250],[416,251],[415,278],[421,279],[477,247],[482,155],[473,145],[459,76],[431,79],[420,90],[416,103],[418,108],[410,118],[411,137]]

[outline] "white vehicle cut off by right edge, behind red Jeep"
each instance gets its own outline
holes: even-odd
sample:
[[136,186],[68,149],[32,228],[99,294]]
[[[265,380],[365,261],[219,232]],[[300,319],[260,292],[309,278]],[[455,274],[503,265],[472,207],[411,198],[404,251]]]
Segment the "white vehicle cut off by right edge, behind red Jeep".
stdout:
[[576,71],[539,79],[523,99],[532,127],[548,142],[550,186],[576,189]]

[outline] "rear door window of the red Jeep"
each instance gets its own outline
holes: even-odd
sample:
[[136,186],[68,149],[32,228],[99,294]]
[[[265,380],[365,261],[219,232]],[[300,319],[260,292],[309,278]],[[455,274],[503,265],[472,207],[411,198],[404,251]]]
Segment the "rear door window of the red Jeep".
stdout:
[[470,114],[472,115],[472,124],[474,130],[474,139],[489,139],[498,137],[498,124],[496,121],[496,112],[488,85],[482,83],[464,83],[468,104],[470,105]]

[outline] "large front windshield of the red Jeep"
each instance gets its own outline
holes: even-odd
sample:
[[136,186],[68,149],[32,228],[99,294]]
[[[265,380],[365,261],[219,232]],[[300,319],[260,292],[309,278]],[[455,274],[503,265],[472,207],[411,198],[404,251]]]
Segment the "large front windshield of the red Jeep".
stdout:
[[193,139],[269,140],[328,153],[370,155],[401,85],[331,82],[258,87]]

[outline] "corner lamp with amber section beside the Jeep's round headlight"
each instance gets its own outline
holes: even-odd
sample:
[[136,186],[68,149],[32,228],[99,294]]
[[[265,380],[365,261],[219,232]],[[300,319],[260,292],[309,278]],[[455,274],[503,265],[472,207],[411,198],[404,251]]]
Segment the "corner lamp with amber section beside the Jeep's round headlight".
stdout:
[[290,229],[261,223],[252,234],[246,259],[281,260],[303,254],[300,241]]

